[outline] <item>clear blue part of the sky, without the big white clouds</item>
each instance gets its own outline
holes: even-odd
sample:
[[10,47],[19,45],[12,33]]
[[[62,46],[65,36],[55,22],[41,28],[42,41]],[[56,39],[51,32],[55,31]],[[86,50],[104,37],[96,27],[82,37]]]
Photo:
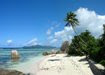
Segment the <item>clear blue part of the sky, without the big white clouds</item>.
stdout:
[[64,29],[66,13],[80,7],[105,15],[105,0],[0,0],[0,46],[49,44],[47,31]]

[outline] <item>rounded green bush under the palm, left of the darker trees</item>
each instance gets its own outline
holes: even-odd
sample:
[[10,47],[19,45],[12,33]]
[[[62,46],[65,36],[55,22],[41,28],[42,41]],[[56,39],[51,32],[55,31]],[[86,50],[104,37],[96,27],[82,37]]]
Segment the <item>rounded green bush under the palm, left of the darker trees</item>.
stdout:
[[[80,40],[81,37],[86,45],[83,44],[83,42]],[[68,54],[78,54],[78,55],[84,55],[88,54],[91,55],[91,52],[96,48],[97,43],[96,39],[90,34],[88,30],[85,32],[82,32],[78,36],[74,36],[74,39],[72,39],[72,43],[69,47],[69,53]]]

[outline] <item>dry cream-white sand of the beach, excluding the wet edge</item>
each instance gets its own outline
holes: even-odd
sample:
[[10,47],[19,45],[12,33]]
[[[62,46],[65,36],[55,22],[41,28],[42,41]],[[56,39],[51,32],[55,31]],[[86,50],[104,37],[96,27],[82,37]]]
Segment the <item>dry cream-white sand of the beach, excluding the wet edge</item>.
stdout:
[[[65,57],[65,54],[50,56],[39,65],[37,75],[93,75],[88,62],[82,60],[84,58]],[[54,59],[55,61],[53,61]]]

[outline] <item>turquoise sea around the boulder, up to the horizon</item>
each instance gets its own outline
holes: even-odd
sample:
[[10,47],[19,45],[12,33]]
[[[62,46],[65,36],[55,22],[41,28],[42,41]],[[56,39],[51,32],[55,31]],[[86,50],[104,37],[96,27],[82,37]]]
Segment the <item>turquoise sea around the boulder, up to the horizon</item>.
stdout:
[[44,51],[50,51],[52,49],[16,49],[20,54],[20,59],[11,60],[11,50],[13,49],[0,49],[0,68],[11,68],[14,65],[28,62],[32,58],[42,57]]

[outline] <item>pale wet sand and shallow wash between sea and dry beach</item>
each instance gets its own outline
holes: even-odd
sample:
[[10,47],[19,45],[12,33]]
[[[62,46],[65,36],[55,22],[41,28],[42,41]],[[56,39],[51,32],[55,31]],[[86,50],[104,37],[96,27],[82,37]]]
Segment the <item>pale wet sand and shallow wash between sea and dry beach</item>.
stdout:
[[29,61],[20,63],[16,66],[8,68],[8,70],[16,70],[20,71],[24,74],[36,75],[38,71],[39,64],[45,59],[45,56],[41,57],[34,57],[31,58]]

